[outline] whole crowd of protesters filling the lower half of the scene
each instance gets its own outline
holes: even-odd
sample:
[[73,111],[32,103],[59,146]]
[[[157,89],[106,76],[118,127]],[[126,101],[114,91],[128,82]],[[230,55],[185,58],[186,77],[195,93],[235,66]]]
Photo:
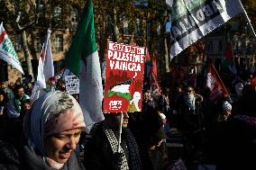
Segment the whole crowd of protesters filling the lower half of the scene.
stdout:
[[32,87],[31,81],[0,84],[1,170],[165,170],[173,163],[166,143],[174,128],[187,169],[198,153],[200,164],[216,169],[256,167],[256,87],[250,83],[235,101],[224,96],[215,103],[193,85],[145,84],[142,112],[105,113],[89,134],[78,95],[66,93],[64,81],[51,78],[48,93],[35,102]]

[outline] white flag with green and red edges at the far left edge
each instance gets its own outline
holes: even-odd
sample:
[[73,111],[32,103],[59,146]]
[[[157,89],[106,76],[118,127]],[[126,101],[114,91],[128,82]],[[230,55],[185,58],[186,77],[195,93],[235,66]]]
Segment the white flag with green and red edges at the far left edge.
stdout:
[[23,73],[23,67],[15,52],[12,41],[8,38],[3,22],[0,25],[0,58]]

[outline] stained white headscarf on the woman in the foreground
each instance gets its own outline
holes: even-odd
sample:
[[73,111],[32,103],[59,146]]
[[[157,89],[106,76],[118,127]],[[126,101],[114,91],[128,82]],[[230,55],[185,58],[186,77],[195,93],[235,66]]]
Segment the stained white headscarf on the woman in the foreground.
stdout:
[[29,146],[37,148],[45,157],[43,138],[54,133],[85,128],[83,112],[76,99],[67,93],[55,91],[42,95],[32,105],[24,121]]

